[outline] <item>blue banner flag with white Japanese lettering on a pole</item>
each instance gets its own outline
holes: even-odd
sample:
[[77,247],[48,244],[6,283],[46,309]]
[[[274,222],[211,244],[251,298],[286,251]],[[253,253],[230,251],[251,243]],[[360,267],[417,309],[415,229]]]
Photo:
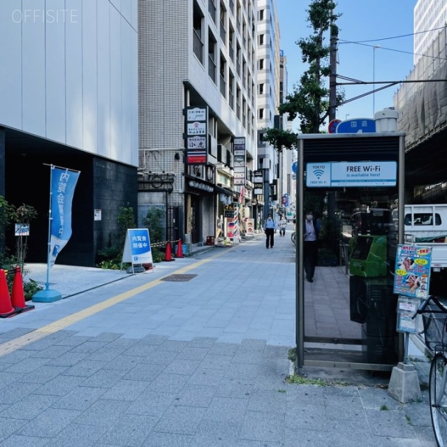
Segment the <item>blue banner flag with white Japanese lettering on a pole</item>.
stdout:
[[51,173],[51,223],[48,263],[54,265],[59,251],[71,237],[71,203],[80,171],[54,166]]

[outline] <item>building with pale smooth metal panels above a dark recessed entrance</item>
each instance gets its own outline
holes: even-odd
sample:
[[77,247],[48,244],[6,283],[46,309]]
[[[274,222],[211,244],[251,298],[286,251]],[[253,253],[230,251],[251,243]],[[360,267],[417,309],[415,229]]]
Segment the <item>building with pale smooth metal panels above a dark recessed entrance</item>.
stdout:
[[47,261],[50,165],[81,171],[57,263],[94,266],[136,209],[137,25],[137,0],[0,2],[0,195],[38,212],[28,262]]

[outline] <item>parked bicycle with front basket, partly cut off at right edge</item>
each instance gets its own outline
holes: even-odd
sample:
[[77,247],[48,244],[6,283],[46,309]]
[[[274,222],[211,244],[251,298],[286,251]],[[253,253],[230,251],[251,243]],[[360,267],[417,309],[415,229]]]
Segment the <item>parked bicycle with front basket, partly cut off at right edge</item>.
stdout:
[[438,447],[447,447],[447,307],[429,295],[412,318],[422,315],[425,345],[434,353],[428,381],[430,416]]

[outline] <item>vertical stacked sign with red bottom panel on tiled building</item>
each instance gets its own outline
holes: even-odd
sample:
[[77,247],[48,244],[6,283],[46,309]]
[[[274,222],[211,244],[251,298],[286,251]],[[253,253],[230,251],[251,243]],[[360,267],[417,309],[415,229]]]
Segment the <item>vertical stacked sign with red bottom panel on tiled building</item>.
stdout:
[[207,109],[187,107],[186,115],[186,164],[207,164]]

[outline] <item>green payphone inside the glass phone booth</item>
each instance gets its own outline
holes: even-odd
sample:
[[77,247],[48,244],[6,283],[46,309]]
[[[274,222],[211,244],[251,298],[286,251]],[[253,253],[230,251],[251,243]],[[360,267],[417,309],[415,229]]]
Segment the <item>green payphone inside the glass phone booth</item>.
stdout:
[[358,277],[386,277],[387,239],[384,235],[358,235],[349,260],[349,272]]

